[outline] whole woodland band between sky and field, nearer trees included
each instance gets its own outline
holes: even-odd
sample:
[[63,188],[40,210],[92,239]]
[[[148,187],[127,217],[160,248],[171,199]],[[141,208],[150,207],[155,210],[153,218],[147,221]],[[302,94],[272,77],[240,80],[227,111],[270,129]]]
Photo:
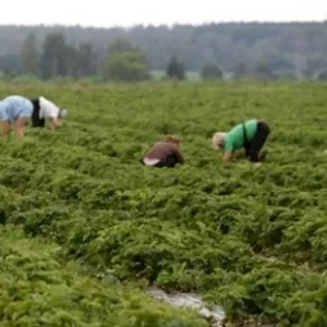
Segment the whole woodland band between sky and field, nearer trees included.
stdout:
[[[173,60],[185,71],[213,71],[208,66],[216,66],[234,76],[257,69],[270,77],[319,77],[327,69],[327,22],[133,28],[0,26],[0,71],[43,78],[90,76],[104,71],[104,76],[113,76],[130,62],[135,70],[138,65],[134,80],[143,80],[147,69],[167,71]],[[124,57],[114,57],[119,48]]]

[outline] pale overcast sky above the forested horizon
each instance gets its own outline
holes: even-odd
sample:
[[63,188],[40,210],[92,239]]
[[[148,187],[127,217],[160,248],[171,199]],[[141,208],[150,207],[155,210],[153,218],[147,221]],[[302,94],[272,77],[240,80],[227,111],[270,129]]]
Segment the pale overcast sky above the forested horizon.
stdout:
[[327,0],[0,0],[0,24],[171,25],[325,21]]

